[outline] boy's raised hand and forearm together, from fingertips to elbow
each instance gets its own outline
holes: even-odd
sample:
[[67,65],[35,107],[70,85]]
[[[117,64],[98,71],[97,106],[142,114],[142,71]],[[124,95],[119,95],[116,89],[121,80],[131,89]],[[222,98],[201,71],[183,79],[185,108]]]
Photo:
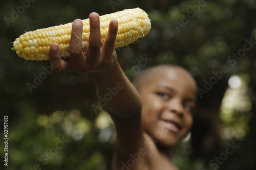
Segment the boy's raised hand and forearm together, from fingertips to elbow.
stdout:
[[[82,21],[76,19],[73,22],[69,46],[70,58],[61,59],[59,45],[57,43],[51,45],[50,63],[53,69],[55,71],[65,70],[79,73],[91,72],[97,86],[98,95],[106,98],[104,100],[107,104],[103,108],[111,115],[129,117],[140,112],[139,94],[124,75],[114,51],[117,20],[110,22],[108,35],[102,48],[100,48],[99,15],[92,13],[89,18],[90,40],[87,51],[84,53],[82,51]],[[111,89],[112,93],[110,92]]]

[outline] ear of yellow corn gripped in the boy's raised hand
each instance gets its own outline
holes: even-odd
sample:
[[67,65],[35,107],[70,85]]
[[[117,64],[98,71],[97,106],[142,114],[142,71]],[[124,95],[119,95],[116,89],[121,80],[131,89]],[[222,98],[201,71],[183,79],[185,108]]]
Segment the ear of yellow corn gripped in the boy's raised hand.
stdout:
[[[151,29],[151,22],[147,14],[140,8],[126,9],[100,16],[101,45],[109,30],[111,19],[117,19],[118,32],[115,48],[128,45],[145,36]],[[83,21],[82,47],[86,51],[89,43],[89,18]],[[49,60],[50,45],[57,42],[60,46],[60,56],[69,58],[69,43],[72,22],[65,25],[49,27],[26,32],[13,42],[13,50],[19,57],[26,60]]]

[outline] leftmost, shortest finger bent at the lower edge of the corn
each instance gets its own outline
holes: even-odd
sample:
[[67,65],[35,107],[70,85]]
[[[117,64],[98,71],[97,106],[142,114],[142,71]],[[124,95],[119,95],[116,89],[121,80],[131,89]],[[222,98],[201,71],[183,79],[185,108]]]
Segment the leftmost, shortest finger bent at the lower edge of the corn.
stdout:
[[54,42],[50,46],[50,65],[54,71],[62,71],[66,69],[67,62],[61,60],[59,44]]

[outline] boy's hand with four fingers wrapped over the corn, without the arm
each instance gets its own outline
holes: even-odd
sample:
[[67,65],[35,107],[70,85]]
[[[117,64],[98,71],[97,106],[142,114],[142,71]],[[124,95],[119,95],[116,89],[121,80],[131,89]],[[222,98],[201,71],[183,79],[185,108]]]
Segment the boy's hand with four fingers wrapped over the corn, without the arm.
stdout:
[[[70,58],[61,59],[58,43],[52,43],[50,47],[50,63],[55,71],[77,71],[80,74],[95,71],[109,71],[118,64],[114,50],[117,20],[110,21],[109,32],[100,47],[100,23],[99,15],[91,13],[90,16],[90,39],[86,52],[82,50],[82,20],[73,22],[71,40],[69,44]],[[55,67],[52,65],[55,62]],[[57,65],[57,67],[56,67]]]

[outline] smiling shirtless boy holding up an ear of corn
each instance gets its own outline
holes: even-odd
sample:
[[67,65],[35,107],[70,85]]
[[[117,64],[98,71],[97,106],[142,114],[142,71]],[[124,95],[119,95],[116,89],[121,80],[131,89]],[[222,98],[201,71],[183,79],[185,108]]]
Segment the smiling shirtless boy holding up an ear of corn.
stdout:
[[[90,16],[90,42],[82,51],[82,22],[73,22],[70,58],[61,59],[59,45],[50,48],[50,63],[55,71],[91,72],[98,95],[107,88],[119,87],[103,108],[114,120],[117,135],[112,169],[177,169],[170,152],[192,125],[196,83],[178,66],[160,65],[142,71],[134,85],[118,64],[114,44],[117,20],[110,22],[109,32],[100,47],[99,15]],[[136,89],[137,88],[137,89]]]

